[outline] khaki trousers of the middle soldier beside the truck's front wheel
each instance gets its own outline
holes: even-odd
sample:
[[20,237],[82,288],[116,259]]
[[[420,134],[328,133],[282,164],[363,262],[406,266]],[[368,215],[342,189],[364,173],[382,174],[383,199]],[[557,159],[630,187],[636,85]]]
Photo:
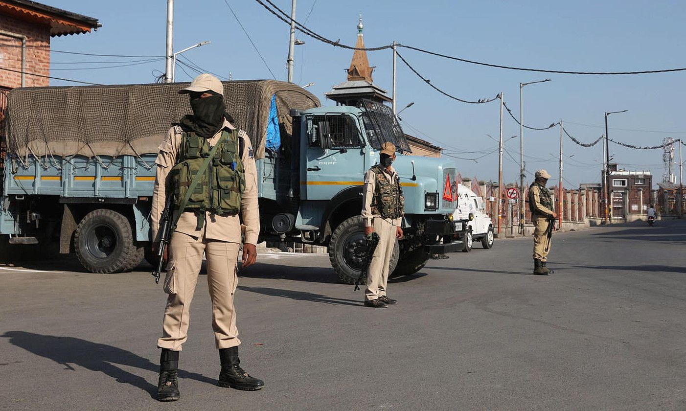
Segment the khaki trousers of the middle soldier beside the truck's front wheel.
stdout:
[[396,226],[375,215],[372,220],[372,228],[379,235],[379,244],[372,254],[372,261],[369,263],[367,289],[364,290],[365,301],[375,300],[386,295],[388,265],[395,246]]

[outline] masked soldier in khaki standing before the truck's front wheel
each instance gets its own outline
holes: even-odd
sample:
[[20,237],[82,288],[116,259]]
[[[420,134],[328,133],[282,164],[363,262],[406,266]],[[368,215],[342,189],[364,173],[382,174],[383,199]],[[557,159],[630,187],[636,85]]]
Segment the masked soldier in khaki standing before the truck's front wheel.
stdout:
[[397,303],[386,295],[388,268],[393,254],[395,239],[403,237],[401,222],[405,215],[405,198],[400,187],[400,177],[391,166],[395,160],[395,145],[381,144],[379,163],[373,165],[364,175],[362,194],[362,218],[364,234],[379,235],[379,244],[374,250],[367,273],[367,288],[364,291],[366,307],[386,308]]

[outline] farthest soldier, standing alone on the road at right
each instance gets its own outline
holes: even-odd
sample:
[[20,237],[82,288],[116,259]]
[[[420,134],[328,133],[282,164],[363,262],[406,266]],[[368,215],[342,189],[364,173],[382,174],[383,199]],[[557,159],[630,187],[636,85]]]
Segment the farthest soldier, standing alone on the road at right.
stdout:
[[548,275],[553,271],[547,268],[547,255],[550,250],[549,231],[553,229],[557,213],[553,211],[553,201],[545,185],[550,174],[544,169],[536,172],[536,180],[529,187],[529,209],[534,223],[534,274]]

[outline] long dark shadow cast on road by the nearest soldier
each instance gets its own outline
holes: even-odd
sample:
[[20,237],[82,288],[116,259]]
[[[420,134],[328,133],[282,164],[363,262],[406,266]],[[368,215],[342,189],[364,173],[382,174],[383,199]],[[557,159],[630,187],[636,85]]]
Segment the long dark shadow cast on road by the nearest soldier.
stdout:
[[[159,365],[153,364],[147,358],[131,353],[111,345],[99,344],[73,337],[43,336],[42,334],[26,331],[7,331],[1,337],[9,338],[10,343],[21,347],[29,353],[53,360],[62,364],[65,370],[76,371],[70,364],[75,364],[91,371],[99,371],[114,378],[121,384],[130,384],[141,388],[151,397],[156,398],[157,386],[150,384],[140,375],[124,371],[114,364],[140,368],[141,370],[158,373]],[[181,378],[215,384],[216,381],[198,373],[179,371]]]

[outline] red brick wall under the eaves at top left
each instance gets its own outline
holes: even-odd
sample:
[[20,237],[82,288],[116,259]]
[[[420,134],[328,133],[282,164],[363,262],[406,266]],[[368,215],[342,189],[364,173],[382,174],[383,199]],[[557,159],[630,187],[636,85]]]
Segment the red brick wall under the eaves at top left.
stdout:
[[[0,30],[26,36],[26,69],[27,73],[40,75],[50,74],[50,27],[47,24],[34,23],[3,15],[0,19]],[[40,48],[40,49],[36,49]],[[21,39],[0,35],[0,67],[21,71]],[[47,86],[49,79],[25,75],[25,86]],[[0,87],[21,86],[21,73],[0,70]]]

